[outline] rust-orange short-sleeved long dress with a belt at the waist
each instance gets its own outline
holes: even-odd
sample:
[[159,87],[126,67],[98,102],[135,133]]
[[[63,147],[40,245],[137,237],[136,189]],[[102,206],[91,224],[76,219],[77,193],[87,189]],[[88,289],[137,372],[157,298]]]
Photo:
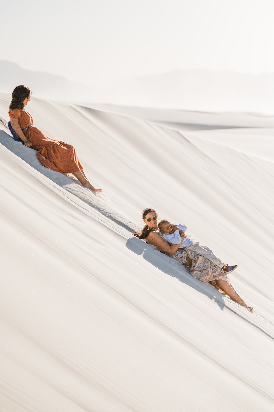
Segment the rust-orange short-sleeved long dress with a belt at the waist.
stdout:
[[50,139],[36,127],[23,130],[24,127],[33,124],[33,118],[26,110],[9,110],[9,117],[17,119],[23,134],[32,143],[32,149],[36,150],[37,158],[42,166],[61,173],[75,173],[83,168],[73,146]]

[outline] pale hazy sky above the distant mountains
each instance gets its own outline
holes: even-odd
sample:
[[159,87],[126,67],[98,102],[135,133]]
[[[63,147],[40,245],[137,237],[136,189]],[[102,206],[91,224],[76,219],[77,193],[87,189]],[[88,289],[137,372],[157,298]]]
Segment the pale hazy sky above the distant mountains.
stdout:
[[274,72],[273,0],[1,5],[0,60],[90,85],[174,69]]

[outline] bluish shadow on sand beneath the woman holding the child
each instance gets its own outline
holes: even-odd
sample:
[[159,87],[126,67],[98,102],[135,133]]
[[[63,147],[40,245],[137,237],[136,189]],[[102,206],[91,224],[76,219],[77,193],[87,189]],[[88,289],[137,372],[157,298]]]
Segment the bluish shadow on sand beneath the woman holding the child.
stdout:
[[218,307],[223,310],[225,302],[222,293],[218,292],[213,286],[192,278],[188,270],[175,259],[161,253],[159,250],[153,248],[153,246],[144,243],[136,237],[128,239],[126,241],[126,247],[136,253],[136,255],[143,254],[143,258],[147,262],[150,262],[162,272],[194,288],[197,292],[203,293],[210,300],[214,300]]

